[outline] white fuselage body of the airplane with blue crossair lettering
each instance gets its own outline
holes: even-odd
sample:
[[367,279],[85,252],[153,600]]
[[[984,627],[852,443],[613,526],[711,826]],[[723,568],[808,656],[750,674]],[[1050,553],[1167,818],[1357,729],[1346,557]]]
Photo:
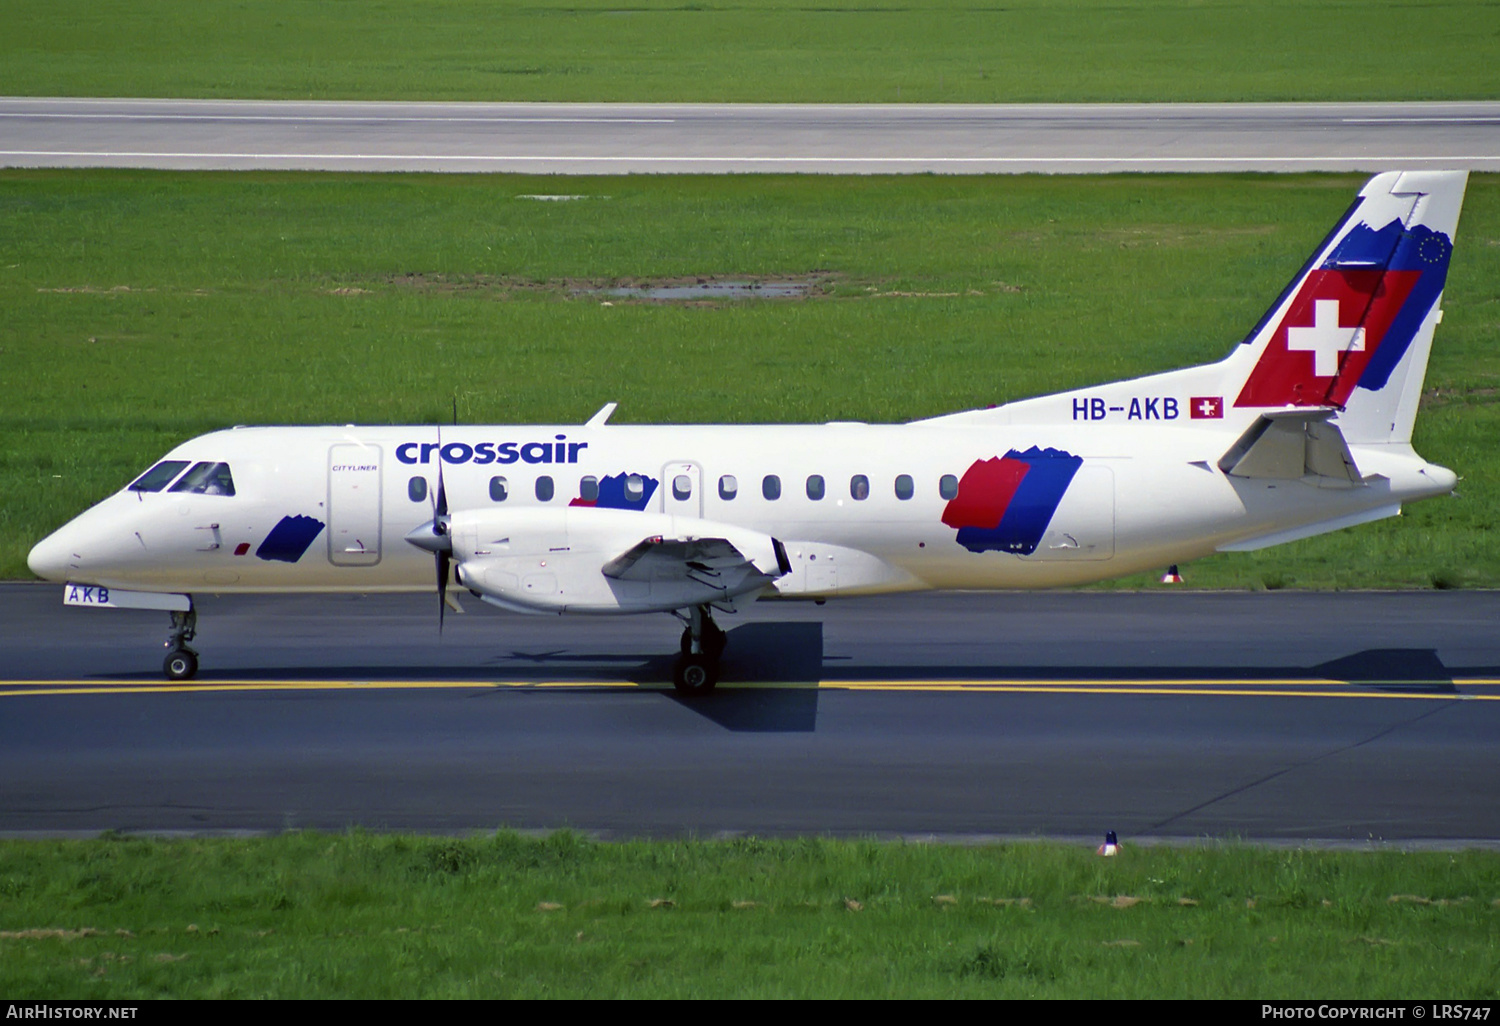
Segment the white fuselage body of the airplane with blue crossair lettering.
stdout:
[[[1044,588],[1298,528],[1332,530],[1454,484],[1452,472],[1408,446],[1354,447],[1365,482],[1348,488],[1311,477],[1230,477],[1216,460],[1238,430],[942,422],[240,428],[194,438],[166,456],[189,466],[228,465],[234,495],[122,490],[38,544],[30,564],[52,580],[136,591],[430,591],[432,556],[405,536],[434,519],[441,464],[454,513],[566,508],[590,489],[584,478],[636,476],[650,492],[640,512],[780,540],[792,568],[768,585],[772,596]],[[1016,492],[1017,516],[1029,516],[1038,532],[1035,548],[962,544],[944,522],[952,484],[968,488],[976,464],[1032,447],[1077,460],[1050,510],[1020,510],[1026,494]],[[766,496],[768,477],[780,483],[777,498]],[[810,496],[814,477],[820,498]],[[538,489],[542,478],[550,480],[550,498],[544,482]],[[910,478],[909,498],[903,478]],[[306,530],[282,528],[268,544],[284,520]]]

